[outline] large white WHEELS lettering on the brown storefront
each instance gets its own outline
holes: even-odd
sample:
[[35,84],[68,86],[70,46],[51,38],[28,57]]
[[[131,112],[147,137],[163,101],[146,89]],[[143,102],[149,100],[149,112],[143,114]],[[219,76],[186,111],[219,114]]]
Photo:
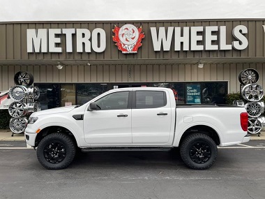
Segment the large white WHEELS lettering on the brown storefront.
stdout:
[[[167,34],[165,27],[160,27],[158,33],[156,27],[151,27],[151,36],[153,40],[153,50],[169,51],[172,38],[174,36],[174,51],[181,50],[244,50],[248,47],[248,39],[244,34],[248,33],[247,27],[239,25],[234,27],[232,34],[234,41],[227,44],[226,27],[168,27]],[[219,34],[217,34],[219,32]],[[173,35],[174,33],[174,35]],[[219,35],[219,36],[218,36]],[[213,44],[216,43],[216,44]]]

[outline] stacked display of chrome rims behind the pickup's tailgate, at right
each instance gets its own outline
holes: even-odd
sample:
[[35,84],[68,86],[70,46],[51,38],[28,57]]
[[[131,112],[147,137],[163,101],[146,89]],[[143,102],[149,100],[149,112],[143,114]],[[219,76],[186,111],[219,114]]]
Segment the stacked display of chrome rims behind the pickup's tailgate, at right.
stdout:
[[241,96],[247,103],[243,101],[234,101],[233,105],[245,107],[248,112],[248,133],[257,134],[260,136],[260,131],[264,126],[264,91],[262,86],[257,84],[259,80],[259,73],[253,69],[248,68],[239,73],[239,82]]

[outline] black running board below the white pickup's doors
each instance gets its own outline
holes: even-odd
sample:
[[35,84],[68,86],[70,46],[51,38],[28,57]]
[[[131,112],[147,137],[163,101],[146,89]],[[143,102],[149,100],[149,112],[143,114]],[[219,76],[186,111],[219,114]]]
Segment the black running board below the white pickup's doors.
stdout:
[[82,152],[139,152],[139,151],[169,151],[174,147],[88,147]]

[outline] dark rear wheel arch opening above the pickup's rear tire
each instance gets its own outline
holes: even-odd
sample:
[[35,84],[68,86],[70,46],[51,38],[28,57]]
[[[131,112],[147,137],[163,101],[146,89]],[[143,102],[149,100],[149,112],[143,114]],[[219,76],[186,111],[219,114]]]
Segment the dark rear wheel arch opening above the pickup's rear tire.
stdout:
[[181,145],[183,140],[192,133],[203,133],[205,135],[208,135],[210,138],[213,139],[216,145],[220,145],[220,137],[218,133],[215,131],[215,129],[211,128],[210,126],[206,126],[206,125],[197,125],[197,126],[191,126],[183,133],[183,135],[181,135],[179,146]]

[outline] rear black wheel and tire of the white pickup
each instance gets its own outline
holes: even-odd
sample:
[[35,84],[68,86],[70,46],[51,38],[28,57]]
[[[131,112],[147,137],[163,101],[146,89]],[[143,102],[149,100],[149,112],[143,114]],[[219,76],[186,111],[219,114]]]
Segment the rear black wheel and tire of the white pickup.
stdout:
[[212,138],[203,133],[188,135],[182,142],[181,159],[189,168],[210,168],[217,157],[217,146]]

